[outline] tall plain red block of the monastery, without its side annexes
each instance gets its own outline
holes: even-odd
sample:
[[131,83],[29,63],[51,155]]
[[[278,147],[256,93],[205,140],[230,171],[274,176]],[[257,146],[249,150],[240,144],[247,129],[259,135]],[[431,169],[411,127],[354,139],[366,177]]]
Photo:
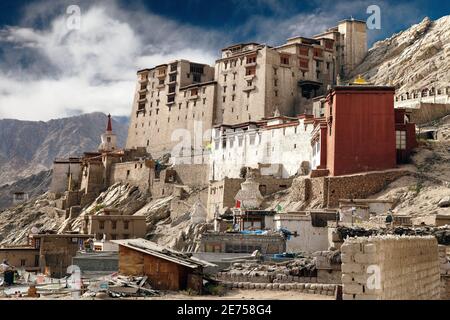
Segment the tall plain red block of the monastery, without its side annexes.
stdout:
[[389,87],[358,86],[336,87],[331,93],[327,107],[330,175],[395,168],[394,93]]

